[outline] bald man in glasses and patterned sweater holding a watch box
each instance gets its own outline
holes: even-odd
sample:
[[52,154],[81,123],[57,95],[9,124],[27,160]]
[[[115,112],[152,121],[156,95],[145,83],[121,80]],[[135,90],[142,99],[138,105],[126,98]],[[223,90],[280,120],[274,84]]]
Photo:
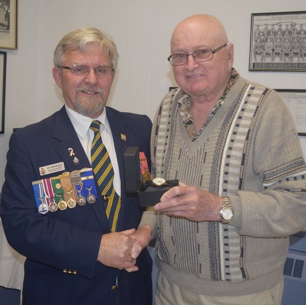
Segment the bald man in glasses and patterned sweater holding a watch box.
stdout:
[[306,226],[306,165],[279,95],[242,78],[221,22],[174,29],[178,88],[151,133],[152,175],[178,179],[148,208],[136,257],[157,236],[156,304],[281,304],[288,236]]

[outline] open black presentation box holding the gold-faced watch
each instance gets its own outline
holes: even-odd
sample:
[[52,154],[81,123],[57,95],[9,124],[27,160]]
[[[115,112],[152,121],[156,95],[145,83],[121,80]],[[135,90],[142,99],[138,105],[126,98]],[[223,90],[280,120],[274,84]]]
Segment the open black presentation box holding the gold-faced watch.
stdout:
[[140,174],[139,147],[127,147],[124,153],[124,168],[126,193],[137,195],[140,207],[159,203],[165,192],[178,186],[177,179],[165,180],[161,185],[154,183],[156,179],[144,181]]

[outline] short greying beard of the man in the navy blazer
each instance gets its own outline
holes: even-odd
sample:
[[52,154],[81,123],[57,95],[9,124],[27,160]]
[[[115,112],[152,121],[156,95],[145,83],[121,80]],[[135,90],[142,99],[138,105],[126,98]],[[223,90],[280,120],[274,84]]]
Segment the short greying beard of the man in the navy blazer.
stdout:
[[[98,97],[80,97],[78,95],[79,90],[77,91],[75,95],[74,100],[74,109],[76,112],[88,116],[88,117],[97,117],[102,113],[101,110],[104,109],[106,105],[106,101],[104,101],[104,95],[102,90],[99,90],[99,96]],[[98,115],[97,115],[98,114]]]

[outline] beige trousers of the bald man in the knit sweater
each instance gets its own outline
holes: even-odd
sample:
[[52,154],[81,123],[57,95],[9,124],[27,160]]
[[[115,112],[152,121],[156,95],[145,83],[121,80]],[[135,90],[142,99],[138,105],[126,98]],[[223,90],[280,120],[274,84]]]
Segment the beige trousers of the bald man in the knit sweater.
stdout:
[[281,305],[284,281],[270,290],[239,296],[206,296],[170,283],[159,271],[155,305]]

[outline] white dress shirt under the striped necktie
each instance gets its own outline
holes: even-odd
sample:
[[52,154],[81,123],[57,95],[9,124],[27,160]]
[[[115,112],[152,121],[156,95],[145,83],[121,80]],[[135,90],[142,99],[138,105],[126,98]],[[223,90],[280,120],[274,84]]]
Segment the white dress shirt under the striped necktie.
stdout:
[[[66,107],[68,116],[71,120],[71,123],[85,150],[86,156],[89,162],[91,163],[90,147],[91,147],[91,142],[93,142],[93,139],[94,139],[94,132],[89,127],[93,119],[70,109],[66,104],[65,104],[65,107]],[[102,114],[98,116],[97,118],[95,118],[95,120],[99,120],[101,122],[100,132],[101,132],[102,142],[104,143],[108,151],[110,161],[114,169],[113,185],[114,185],[116,193],[119,196],[121,196],[121,184],[120,184],[121,182],[120,182],[118,161],[117,161],[117,156],[116,156],[116,151],[115,151],[114,140],[112,137],[111,129],[108,123],[107,115],[106,115],[106,110],[104,109]]]

